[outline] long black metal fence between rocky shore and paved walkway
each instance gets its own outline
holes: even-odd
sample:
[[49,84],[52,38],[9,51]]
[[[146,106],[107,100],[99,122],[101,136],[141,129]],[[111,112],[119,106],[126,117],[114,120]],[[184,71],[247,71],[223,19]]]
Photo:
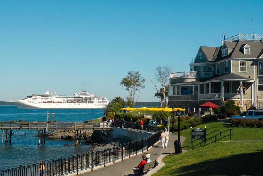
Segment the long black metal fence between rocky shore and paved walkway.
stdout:
[[106,166],[107,163],[115,163],[138,152],[147,150],[154,145],[161,132],[142,140],[117,145],[103,150],[90,151],[77,155],[70,155],[39,163],[31,163],[0,170],[0,176],[62,176],[70,173],[78,174],[81,170],[91,169],[96,166]]

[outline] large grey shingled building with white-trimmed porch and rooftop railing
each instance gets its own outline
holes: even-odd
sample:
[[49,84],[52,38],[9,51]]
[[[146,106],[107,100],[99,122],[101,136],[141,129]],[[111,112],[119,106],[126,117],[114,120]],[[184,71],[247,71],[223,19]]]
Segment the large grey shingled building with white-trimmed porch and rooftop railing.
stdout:
[[239,33],[221,47],[201,46],[190,71],[171,74],[168,105],[193,110],[232,99],[243,110],[263,109],[262,37]]

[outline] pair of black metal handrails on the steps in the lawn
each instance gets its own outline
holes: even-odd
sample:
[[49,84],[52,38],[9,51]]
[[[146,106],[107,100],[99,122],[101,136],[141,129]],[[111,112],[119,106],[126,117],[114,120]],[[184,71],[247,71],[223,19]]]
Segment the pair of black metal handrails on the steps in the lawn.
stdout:
[[[208,144],[210,144],[210,143],[219,142],[220,139],[223,139],[223,138],[225,138],[225,137],[227,137],[227,136],[230,136],[230,140],[231,140],[231,136],[234,135],[234,130],[233,130],[233,129],[227,129],[227,130],[225,130],[225,131],[223,131],[223,132],[221,132],[220,130],[215,130],[215,131],[217,131],[217,133],[218,133],[217,135],[211,136],[211,137],[209,137],[209,138],[207,138],[207,139],[205,139],[205,137],[199,138],[199,139],[202,139],[202,141],[201,141],[200,143],[196,144],[196,145],[193,145],[193,142],[196,141],[196,140],[198,140],[198,139],[193,140],[192,142],[189,142],[189,143],[187,144],[187,147],[188,147],[189,149],[190,149],[190,148],[193,149],[193,147],[198,146],[198,145],[200,145],[200,147],[204,147],[204,146],[206,146],[206,145],[208,145]],[[213,132],[215,132],[215,131],[213,131]],[[220,131],[220,133],[219,133],[219,131]],[[219,138],[219,137],[222,135],[222,133],[227,132],[227,131],[230,132],[228,135]],[[211,134],[211,133],[213,133],[213,132],[210,132],[209,134]],[[209,134],[207,134],[207,135],[209,135]],[[206,135],[206,136],[207,136],[207,135]],[[212,142],[207,143],[207,141],[209,141],[209,140],[211,140],[211,139],[214,139],[214,140],[213,140]],[[189,144],[191,144],[191,145],[190,145],[191,147],[189,147]]]

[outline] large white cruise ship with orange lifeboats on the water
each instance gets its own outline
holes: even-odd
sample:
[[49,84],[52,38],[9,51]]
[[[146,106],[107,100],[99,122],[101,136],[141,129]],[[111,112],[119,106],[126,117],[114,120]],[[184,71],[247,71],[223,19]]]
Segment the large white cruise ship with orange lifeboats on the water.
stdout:
[[23,100],[10,101],[19,108],[106,108],[109,101],[106,98],[94,96],[82,91],[74,96],[59,96],[56,92],[31,94]]

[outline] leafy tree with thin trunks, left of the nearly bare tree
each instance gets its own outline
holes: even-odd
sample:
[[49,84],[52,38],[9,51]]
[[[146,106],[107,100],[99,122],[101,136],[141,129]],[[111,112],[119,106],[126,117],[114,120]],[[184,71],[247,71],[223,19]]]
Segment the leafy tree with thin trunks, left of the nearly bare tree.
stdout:
[[[138,101],[141,89],[145,87],[145,78],[141,77],[139,71],[129,71],[127,76],[124,77],[120,86],[125,87],[129,91],[129,99],[131,101],[131,107]],[[137,98],[135,99],[135,93],[139,91]]]

